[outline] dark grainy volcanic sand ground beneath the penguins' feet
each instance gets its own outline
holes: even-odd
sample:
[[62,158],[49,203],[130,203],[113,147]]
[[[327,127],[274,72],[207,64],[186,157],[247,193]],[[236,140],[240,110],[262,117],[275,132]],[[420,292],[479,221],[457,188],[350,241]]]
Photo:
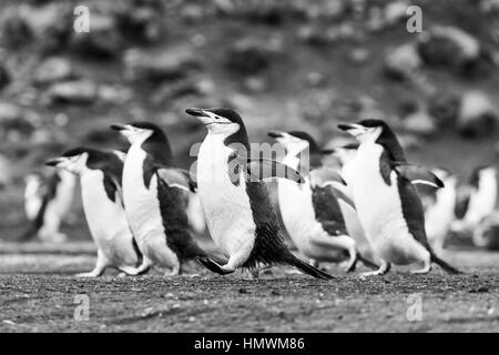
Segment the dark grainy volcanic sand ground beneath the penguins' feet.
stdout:
[[[337,278],[322,282],[276,267],[253,281],[193,264],[170,280],[157,272],[116,277],[112,271],[81,280],[72,274],[92,267],[89,254],[0,254],[0,331],[498,332],[499,254],[445,256],[467,274],[435,267],[416,276],[396,267],[361,281],[330,266]],[[81,294],[89,296],[90,318],[78,322],[74,300]],[[410,322],[408,310],[418,300],[422,321]]]

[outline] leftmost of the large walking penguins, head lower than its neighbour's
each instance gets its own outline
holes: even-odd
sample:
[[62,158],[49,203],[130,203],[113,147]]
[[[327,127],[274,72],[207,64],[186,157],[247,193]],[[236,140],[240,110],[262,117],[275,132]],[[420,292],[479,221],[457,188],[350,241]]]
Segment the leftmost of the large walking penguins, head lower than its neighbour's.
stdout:
[[45,162],[80,178],[83,211],[90,233],[98,248],[93,271],[78,277],[98,277],[108,267],[133,274],[141,254],[126,221],[121,175],[120,153],[91,148],[75,148]]

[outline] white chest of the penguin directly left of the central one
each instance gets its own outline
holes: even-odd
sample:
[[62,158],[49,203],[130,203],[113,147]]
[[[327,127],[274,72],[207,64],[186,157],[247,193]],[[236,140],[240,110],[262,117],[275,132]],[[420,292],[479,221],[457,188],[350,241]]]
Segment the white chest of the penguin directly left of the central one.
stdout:
[[145,158],[146,152],[139,144],[133,144],[123,166],[123,202],[130,227],[141,251],[147,239],[164,236],[156,176],[152,176],[149,189],[144,182]]

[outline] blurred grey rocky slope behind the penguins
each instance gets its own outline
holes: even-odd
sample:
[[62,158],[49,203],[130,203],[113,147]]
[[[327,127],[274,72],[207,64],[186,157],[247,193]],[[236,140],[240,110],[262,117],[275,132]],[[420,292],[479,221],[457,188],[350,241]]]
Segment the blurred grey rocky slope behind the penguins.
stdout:
[[[334,144],[338,121],[381,118],[411,161],[466,179],[498,162],[498,65],[497,0],[2,0],[0,237],[26,227],[23,178],[47,158],[124,146],[110,123],[161,124],[189,166],[204,128],[187,106],[235,108],[253,141],[302,129]],[[71,227],[88,237],[81,213]]]

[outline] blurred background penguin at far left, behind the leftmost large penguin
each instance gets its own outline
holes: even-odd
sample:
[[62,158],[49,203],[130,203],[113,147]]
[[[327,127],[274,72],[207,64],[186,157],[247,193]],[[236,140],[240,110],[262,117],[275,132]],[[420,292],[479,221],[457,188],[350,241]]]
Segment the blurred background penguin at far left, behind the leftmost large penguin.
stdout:
[[73,203],[74,175],[58,169],[48,175],[31,173],[24,181],[24,211],[30,225],[18,241],[28,242],[38,235],[42,242],[64,242],[67,235],[60,227]]

